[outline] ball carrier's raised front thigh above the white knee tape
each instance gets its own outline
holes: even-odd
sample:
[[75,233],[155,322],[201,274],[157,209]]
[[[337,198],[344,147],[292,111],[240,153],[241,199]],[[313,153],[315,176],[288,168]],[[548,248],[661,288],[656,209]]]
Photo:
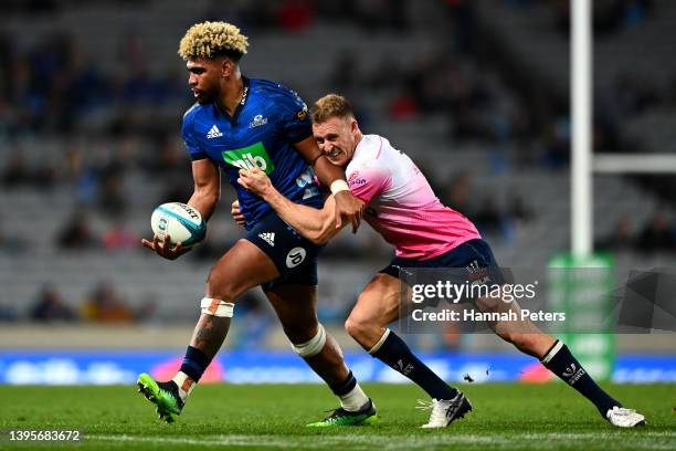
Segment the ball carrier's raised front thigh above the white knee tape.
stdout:
[[207,279],[207,296],[235,297],[279,275],[274,262],[253,243],[240,240],[213,265]]

